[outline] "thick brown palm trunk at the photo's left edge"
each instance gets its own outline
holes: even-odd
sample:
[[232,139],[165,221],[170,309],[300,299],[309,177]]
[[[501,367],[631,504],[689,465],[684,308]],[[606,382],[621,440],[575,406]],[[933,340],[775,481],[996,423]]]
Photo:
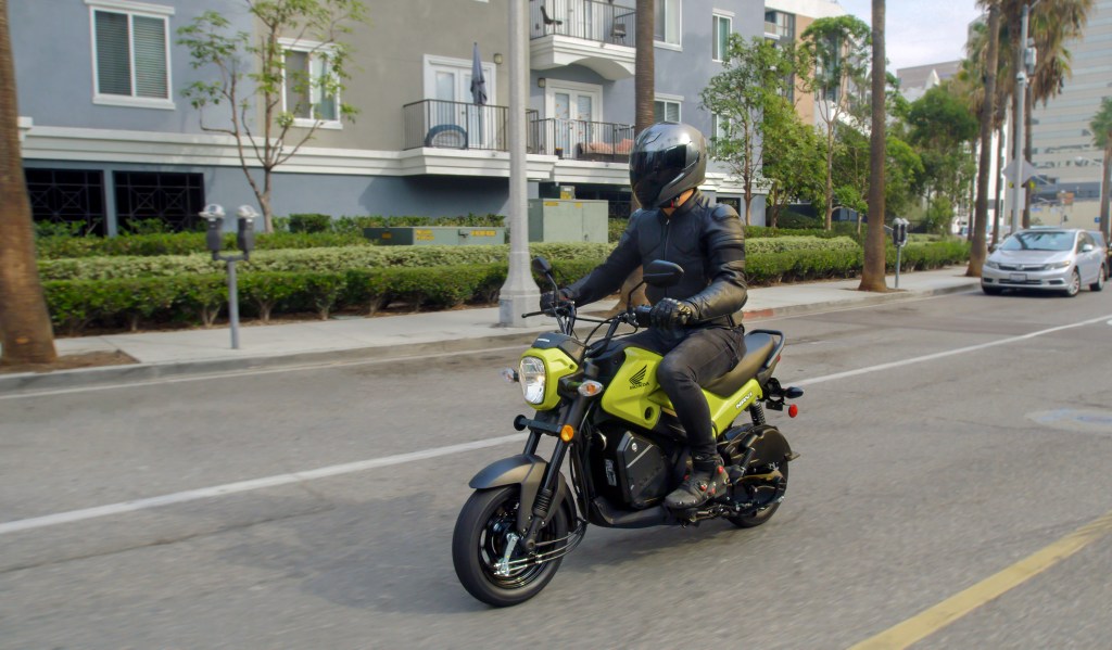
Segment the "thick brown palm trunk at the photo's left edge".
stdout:
[[8,0],[0,0],[0,366],[49,363],[58,357],[36,263],[14,68]]

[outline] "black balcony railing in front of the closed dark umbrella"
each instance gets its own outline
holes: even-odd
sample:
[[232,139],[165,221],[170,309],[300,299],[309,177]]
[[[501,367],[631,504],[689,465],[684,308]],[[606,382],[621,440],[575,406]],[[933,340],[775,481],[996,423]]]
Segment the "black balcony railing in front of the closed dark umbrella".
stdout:
[[[426,99],[401,108],[405,122],[405,149],[508,150],[509,108],[460,101]],[[525,111],[526,123],[537,119],[537,111]],[[538,151],[535,129],[526,128],[526,149]]]

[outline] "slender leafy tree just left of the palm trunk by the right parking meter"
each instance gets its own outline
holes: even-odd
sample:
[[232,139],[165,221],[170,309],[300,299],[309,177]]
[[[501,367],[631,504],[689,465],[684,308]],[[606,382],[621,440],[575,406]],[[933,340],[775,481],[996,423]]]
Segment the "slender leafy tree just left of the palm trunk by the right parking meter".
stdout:
[[836,126],[860,106],[858,96],[866,87],[870,28],[853,16],[821,18],[803,31],[801,48],[814,61],[810,76],[801,76],[801,86],[815,92],[816,112],[826,134],[826,229],[834,213],[834,134]]

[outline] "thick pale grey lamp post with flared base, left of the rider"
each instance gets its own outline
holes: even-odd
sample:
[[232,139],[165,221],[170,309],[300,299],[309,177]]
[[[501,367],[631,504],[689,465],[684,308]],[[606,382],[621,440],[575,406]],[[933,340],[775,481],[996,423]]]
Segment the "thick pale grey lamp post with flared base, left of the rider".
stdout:
[[498,298],[498,323],[527,327],[540,291],[529,272],[528,186],[525,151],[526,87],[529,73],[526,3],[509,2],[509,272]]

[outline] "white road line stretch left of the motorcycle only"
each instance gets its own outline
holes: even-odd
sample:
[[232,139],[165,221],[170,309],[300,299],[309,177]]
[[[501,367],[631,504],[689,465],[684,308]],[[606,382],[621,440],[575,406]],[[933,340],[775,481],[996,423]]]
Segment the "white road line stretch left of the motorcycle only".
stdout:
[[225,483],[222,486],[215,486],[211,488],[187,490],[185,492],[175,492],[172,494],[151,497],[149,499],[136,499],[135,501],[123,501],[120,503],[100,506],[97,508],[86,508],[83,510],[70,510],[69,512],[60,512],[58,514],[32,517],[30,519],[18,519],[16,521],[8,521],[4,523],[0,523],[0,534],[7,534],[9,532],[18,532],[21,530],[31,530],[34,528],[46,528],[48,526],[58,526],[59,523],[71,523],[75,521],[82,521],[86,519],[96,519],[98,517],[108,517],[109,514],[120,514],[121,512],[135,512],[137,510],[161,508],[162,506],[172,506],[175,503],[197,501],[198,499],[210,499],[212,497],[222,497],[225,494],[235,494],[237,492],[249,492],[251,490],[261,490],[264,488],[274,488],[277,486],[288,486],[290,483],[300,483],[305,481],[314,481],[317,479],[326,479],[329,477],[338,477],[340,474],[349,474],[353,472],[360,472],[364,470],[376,469],[380,467],[389,467],[391,464],[403,464],[407,462],[414,462],[417,460],[427,460],[440,456],[448,456],[451,453],[460,453],[465,451],[474,451],[476,449],[485,449],[487,447],[496,447],[505,442],[515,442],[515,441],[524,442],[525,436],[526,436],[525,433],[514,433],[512,436],[503,436],[500,438],[476,440],[475,442],[451,444],[449,447],[439,447],[437,449],[426,449],[424,451],[414,451],[411,453],[399,453],[397,456],[387,456],[385,458],[373,458],[370,460],[360,460],[357,462],[334,464],[304,472],[277,474],[261,479],[254,479],[250,481],[239,481],[237,483]]

